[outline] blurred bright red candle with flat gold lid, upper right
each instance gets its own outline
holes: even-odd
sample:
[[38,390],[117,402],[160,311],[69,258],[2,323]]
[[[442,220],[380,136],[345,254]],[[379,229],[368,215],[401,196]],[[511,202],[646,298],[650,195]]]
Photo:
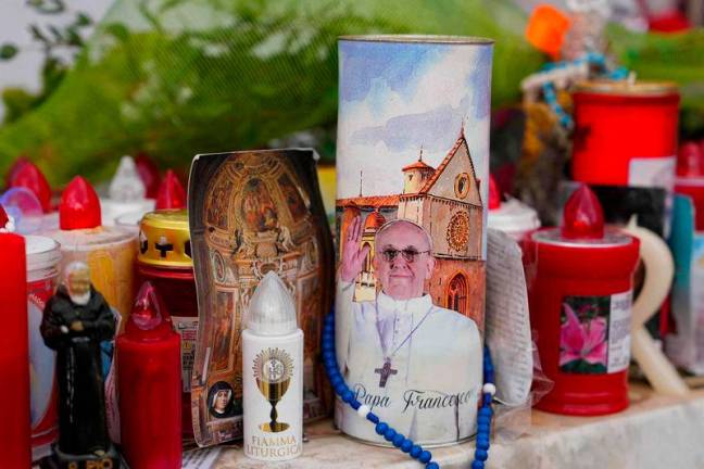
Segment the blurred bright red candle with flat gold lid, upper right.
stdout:
[[672,190],[680,101],[675,84],[586,81],[574,101],[575,180]]

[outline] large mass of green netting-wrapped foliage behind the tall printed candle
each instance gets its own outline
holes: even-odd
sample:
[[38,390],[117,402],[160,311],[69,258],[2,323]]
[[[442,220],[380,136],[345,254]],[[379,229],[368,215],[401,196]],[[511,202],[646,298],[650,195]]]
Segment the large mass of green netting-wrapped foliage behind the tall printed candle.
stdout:
[[495,103],[542,56],[510,0],[122,0],[41,106],[0,129],[0,172],[21,152],[55,182],[106,178],[121,154],[163,165],[265,147],[337,117],[337,37],[420,33],[500,37]]

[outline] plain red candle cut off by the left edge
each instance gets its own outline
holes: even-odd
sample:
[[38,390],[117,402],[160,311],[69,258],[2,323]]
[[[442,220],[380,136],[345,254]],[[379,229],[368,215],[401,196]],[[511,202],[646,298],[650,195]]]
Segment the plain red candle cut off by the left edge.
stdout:
[[[4,215],[2,208],[0,212]],[[27,269],[24,239],[21,236],[0,232],[0,266],[3,334],[0,341],[0,369],[3,375],[0,386],[0,467],[25,469],[32,464],[32,444]]]

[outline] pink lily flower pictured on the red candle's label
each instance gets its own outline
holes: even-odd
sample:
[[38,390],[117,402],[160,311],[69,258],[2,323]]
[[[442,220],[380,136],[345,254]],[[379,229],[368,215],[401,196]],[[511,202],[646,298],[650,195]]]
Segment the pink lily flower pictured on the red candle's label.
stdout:
[[560,366],[577,359],[606,366],[606,320],[595,317],[581,322],[571,306],[563,303],[563,307],[567,322],[560,331]]

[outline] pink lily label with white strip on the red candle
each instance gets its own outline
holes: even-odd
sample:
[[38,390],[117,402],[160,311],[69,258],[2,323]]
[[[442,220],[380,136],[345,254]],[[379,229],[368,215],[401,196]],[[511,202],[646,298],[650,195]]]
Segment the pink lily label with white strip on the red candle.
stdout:
[[623,371],[630,360],[632,292],[565,296],[560,331],[560,370],[604,375]]

